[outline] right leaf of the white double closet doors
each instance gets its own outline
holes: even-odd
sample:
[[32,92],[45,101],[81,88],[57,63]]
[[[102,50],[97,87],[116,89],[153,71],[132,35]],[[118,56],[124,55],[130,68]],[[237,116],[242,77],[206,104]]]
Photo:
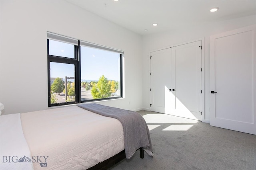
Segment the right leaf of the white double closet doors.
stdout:
[[172,115],[202,120],[201,51],[201,41],[172,48]]

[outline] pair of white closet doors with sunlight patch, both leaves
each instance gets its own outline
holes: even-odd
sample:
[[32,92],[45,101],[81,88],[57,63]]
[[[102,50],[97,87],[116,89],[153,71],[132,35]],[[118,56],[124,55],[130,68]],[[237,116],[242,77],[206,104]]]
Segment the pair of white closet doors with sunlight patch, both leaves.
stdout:
[[201,41],[150,56],[151,111],[202,120]]

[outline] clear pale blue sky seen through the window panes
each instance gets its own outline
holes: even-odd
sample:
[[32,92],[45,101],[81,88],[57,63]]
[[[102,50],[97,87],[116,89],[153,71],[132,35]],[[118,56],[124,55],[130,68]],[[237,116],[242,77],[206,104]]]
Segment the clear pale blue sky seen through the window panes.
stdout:
[[[50,55],[74,58],[74,45],[49,40]],[[74,65],[50,63],[51,77],[74,77]],[[120,80],[120,54],[81,46],[81,79],[98,80],[104,75],[108,80]]]

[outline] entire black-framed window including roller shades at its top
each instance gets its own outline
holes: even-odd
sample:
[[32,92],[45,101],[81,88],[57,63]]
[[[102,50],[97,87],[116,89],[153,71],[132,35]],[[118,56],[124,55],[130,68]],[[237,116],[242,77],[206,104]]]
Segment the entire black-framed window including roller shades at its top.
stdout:
[[122,98],[123,51],[47,33],[48,106]]

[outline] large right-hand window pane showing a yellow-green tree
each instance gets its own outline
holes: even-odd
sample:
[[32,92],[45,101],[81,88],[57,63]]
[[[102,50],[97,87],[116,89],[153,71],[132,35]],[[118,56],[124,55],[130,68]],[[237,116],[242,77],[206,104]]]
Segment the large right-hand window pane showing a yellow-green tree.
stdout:
[[120,54],[81,47],[82,100],[120,97]]

